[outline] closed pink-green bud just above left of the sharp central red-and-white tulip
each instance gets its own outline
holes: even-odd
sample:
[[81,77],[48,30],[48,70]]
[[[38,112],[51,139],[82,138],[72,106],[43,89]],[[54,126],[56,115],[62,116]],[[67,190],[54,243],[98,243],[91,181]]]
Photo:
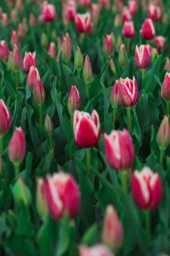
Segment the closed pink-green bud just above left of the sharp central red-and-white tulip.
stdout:
[[77,87],[75,85],[71,85],[71,91],[67,103],[67,108],[70,115],[73,115],[74,111],[79,109],[80,102],[81,99]]

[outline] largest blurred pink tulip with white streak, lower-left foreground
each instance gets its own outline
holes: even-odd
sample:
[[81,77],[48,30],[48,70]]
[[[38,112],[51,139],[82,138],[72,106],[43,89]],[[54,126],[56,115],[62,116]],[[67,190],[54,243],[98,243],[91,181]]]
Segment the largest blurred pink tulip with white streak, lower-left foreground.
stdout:
[[48,212],[55,220],[60,220],[64,212],[68,212],[71,219],[79,214],[79,187],[70,174],[59,172],[53,176],[47,175],[44,194]]

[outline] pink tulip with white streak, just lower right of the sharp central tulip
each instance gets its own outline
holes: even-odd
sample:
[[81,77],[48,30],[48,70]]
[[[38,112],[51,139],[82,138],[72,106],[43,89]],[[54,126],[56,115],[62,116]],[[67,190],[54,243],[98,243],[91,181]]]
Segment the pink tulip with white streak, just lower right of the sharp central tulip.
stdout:
[[131,168],[135,159],[133,140],[126,130],[113,130],[110,135],[104,134],[106,159],[116,171]]

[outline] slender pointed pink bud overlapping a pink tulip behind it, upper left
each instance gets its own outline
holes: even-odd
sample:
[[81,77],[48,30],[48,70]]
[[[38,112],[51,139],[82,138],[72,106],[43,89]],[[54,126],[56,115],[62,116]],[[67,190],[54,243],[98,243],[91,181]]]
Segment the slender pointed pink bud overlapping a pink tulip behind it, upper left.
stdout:
[[42,84],[42,81],[40,79],[40,74],[36,68],[37,71],[37,76],[36,76],[36,82],[34,84],[34,100],[37,103],[37,105],[43,105],[43,103],[45,102],[45,90]]

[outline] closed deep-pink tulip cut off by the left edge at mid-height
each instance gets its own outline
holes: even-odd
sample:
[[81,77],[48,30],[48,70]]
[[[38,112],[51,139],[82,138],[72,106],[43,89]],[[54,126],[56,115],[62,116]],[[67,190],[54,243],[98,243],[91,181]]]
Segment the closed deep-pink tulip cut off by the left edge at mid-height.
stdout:
[[11,127],[11,113],[3,99],[0,99],[0,137],[3,137]]

